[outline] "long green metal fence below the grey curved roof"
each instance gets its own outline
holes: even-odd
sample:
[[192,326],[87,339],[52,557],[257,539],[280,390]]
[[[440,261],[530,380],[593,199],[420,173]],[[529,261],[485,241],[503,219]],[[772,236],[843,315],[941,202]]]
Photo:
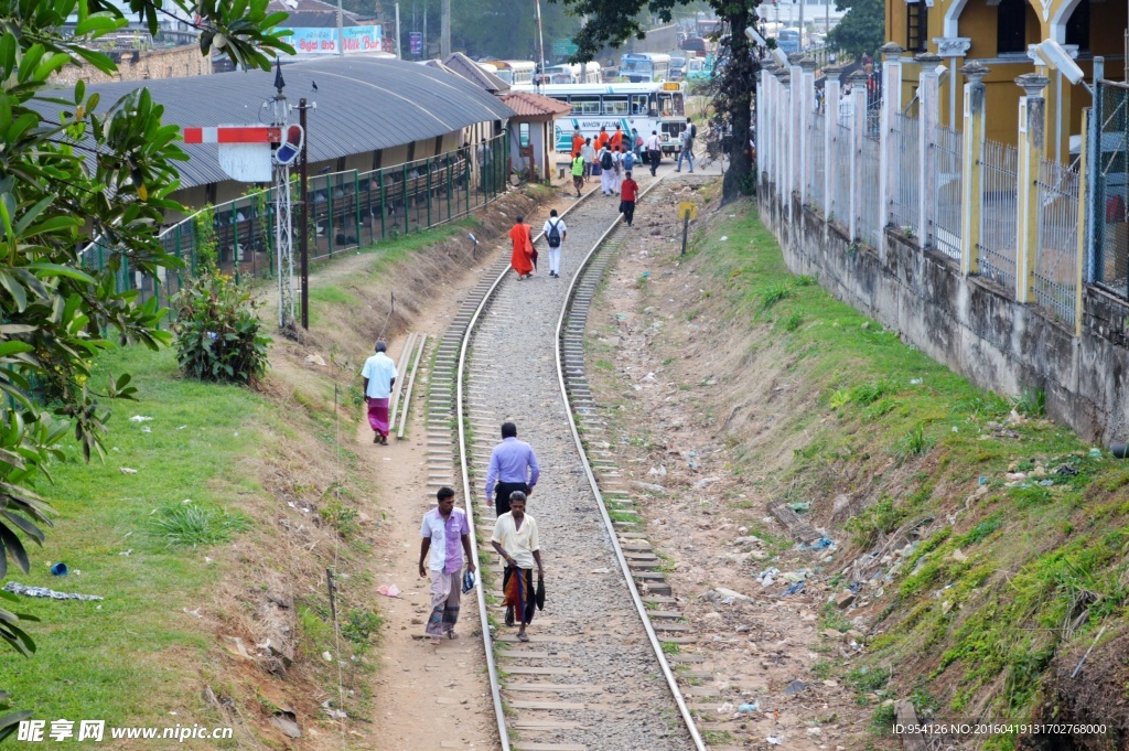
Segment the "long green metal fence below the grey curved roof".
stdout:
[[[506,191],[508,166],[509,139],[502,132],[485,143],[394,167],[310,175],[310,260],[332,257],[466,216]],[[301,232],[297,177],[291,185],[297,253]],[[156,296],[159,305],[167,306],[184,279],[195,272],[198,248],[209,234],[215,237],[219,268],[236,280],[247,274],[271,277],[275,263],[274,215],[273,189],[202,209],[160,233],[165,251],[183,261],[182,269],[161,269],[155,278],[131,270],[122,259],[117,290],[135,289],[142,303]],[[86,264],[102,269],[110,252],[93,243],[84,255]]]

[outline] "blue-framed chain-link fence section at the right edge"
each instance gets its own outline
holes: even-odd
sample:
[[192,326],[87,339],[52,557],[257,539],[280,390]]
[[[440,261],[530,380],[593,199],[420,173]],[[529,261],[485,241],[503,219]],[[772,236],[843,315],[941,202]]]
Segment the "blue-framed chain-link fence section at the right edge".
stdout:
[[1087,181],[1094,193],[1089,273],[1095,285],[1129,298],[1129,86],[1099,81],[1091,116],[1099,138],[1087,145],[1097,149],[1097,169]]

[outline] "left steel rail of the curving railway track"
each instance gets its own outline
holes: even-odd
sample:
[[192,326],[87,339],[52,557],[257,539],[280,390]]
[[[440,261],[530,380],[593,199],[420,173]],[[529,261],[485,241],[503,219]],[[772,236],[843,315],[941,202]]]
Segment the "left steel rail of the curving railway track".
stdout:
[[[594,187],[585,193],[584,197],[577,200],[576,203],[562,211],[560,218],[563,219],[572,209],[584,203],[588,197],[595,195],[598,189]],[[615,221],[619,222],[619,217],[616,217]],[[533,237],[533,242],[537,242],[543,235],[543,232],[537,233]],[[603,242],[603,238],[601,238],[601,242]],[[458,367],[455,369],[455,419],[458,433],[458,469],[463,480],[463,506],[466,510],[466,523],[471,529],[471,553],[474,556],[475,565],[479,564],[479,543],[474,527],[474,509],[471,495],[470,462],[467,460],[470,453],[466,451],[466,418],[463,410],[463,382],[465,381],[466,373],[466,352],[470,350],[471,337],[474,335],[475,324],[478,324],[479,317],[481,317],[482,312],[485,311],[487,306],[490,304],[491,298],[495,296],[495,292],[498,291],[498,287],[506,279],[506,274],[509,273],[509,270],[510,267],[507,265],[506,270],[498,274],[498,278],[493,280],[492,285],[490,285],[490,288],[482,296],[482,299],[479,300],[478,307],[474,308],[474,314],[471,315],[471,320],[466,323],[466,332],[463,334],[463,341],[458,349]],[[587,466],[587,463],[585,465]],[[487,596],[485,588],[482,586],[481,567],[479,568],[479,579],[474,588],[478,592],[479,622],[482,627],[482,645],[487,656],[487,670],[490,673],[490,695],[493,699],[495,716],[498,719],[498,740],[501,743],[502,751],[510,751],[511,746],[509,744],[509,732],[506,728],[506,711],[501,706],[501,684],[498,682],[498,665],[495,662],[493,638],[490,634],[490,621],[488,620]]]

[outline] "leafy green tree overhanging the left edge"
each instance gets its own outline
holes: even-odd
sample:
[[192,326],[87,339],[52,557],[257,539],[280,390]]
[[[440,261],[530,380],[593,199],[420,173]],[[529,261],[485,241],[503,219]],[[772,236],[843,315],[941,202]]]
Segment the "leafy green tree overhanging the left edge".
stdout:
[[[217,49],[244,67],[270,69],[285,14],[268,0],[130,0],[150,32],[163,16],[196,18],[200,50]],[[64,33],[69,16],[73,32]],[[178,263],[157,241],[177,187],[178,128],[147,89],[103,104],[86,87],[53,86],[53,72],[89,64],[113,73],[97,40],[126,24],[105,0],[0,0],[0,579],[9,559],[29,568],[25,540],[42,544],[52,508],[33,488],[47,478],[70,431],[87,459],[102,452],[108,419],[99,399],[130,398],[130,377],[89,383],[94,357],[121,343],[157,348],[165,311],[119,292],[123,264],[155,273]],[[89,268],[79,248],[100,238],[105,268]],[[107,333],[112,332],[112,333]],[[8,600],[7,597],[5,600]],[[0,638],[24,655],[35,645],[0,609]],[[2,701],[2,698],[0,698]],[[0,717],[0,739],[20,713]]]

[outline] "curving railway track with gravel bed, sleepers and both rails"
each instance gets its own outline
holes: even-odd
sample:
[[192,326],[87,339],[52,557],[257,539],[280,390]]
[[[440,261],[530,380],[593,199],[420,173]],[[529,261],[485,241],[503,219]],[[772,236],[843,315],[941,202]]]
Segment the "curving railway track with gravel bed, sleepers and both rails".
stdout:
[[[641,217],[659,182],[645,177]],[[505,751],[706,748],[659,640],[677,643],[689,627],[679,622],[642,535],[613,519],[629,508],[629,491],[616,487],[606,459],[594,453],[589,463],[572,418],[581,416],[590,451],[598,452],[602,428],[584,383],[581,339],[599,277],[633,232],[620,222],[618,206],[596,190],[563,215],[561,279],[543,270],[518,282],[507,273],[508,259],[499,260],[434,353],[429,484],[461,478],[487,549],[493,512],[482,492],[501,422],[517,423],[542,465],[528,513],[541,531],[548,597],[528,644],[500,626],[501,568],[492,553],[481,557],[488,571],[479,611]]]

